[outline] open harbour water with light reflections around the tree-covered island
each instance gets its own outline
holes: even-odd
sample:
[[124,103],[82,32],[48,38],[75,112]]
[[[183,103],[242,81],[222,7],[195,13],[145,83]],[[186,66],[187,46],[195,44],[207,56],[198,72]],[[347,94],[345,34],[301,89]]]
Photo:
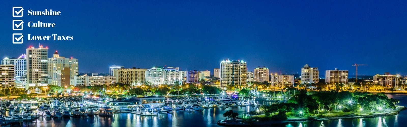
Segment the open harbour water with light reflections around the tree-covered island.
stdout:
[[[400,105],[407,106],[406,94],[387,95],[400,100]],[[247,100],[255,102],[254,100]],[[259,102],[271,105],[273,102]],[[225,119],[223,113],[228,110],[238,112],[239,115],[256,110],[257,107],[228,107],[206,108],[202,112],[188,113],[177,111],[174,114],[158,114],[158,116],[139,116],[136,114],[114,114],[112,117],[88,117],[88,118],[41,118],[33,122],[24,122],[23,126],[48,126],[48,127],[72,127],[72,126],[96,126],[96,127],[216,127],[217,121]],[[400,120],[398,120],[400,119]],[[380,118],[357,118],[310,121],[302,123],[287,123],[273,125],[273,127],[398,127],[407,125],[407,111],[402,111],[395,116]]]

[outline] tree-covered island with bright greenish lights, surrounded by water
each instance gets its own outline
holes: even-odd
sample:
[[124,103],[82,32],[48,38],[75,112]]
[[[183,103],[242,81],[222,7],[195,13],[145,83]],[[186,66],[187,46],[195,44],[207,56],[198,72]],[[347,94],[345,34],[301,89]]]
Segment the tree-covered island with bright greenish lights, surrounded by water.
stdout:
[[226,119],[219,120],[218,125],[251,126],[312,120],[371,118],[396,115],[406,109],[398,105],[399,100],[389,99],[383,93],[335,90],[296,92],[288,99],[281,99],[271,105],[261,105],[258,110],[241,116],[229,110],[223,114]]

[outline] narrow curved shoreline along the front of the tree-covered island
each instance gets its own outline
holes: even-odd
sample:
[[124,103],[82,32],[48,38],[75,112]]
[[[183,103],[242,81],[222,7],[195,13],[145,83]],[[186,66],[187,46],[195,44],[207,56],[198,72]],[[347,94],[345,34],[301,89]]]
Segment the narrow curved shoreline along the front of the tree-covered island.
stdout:
[[396,109],[392,109],[388,113],[383,114],[367,114],[367,115],[352,115],[352,116],[335,116],[335,117],[324,117],[324,118],[296,118],[291,120],[282,120],[282,121],[262,121],[262,122],[254,122],[253,124],[247,123],[236,123],[237,121],[241,120],[234,120],[235,123],[225,123],[223,120],[218,120],[218,125],[222,126],[253,126],[253,125],[274,125],[274,124],[285,124],[285,123],[299,123],[299,122],[308,122],[308,121],[323,121],[323,120],[337,120],[337,119],[353,119],[353,118],[376,118],[376,117],[383,117],[383,116],[394,116],[399,114],[399,112],[407,109],[404,106],[397,106]]

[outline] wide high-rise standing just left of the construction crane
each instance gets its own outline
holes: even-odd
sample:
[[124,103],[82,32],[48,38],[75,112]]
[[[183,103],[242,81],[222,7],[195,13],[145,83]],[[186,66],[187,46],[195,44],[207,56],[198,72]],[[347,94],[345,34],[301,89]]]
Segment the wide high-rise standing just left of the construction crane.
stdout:
[[342,83],[347,85],[348,84],[348,70],[326,70],[325,71],[325,82],[336,84]]

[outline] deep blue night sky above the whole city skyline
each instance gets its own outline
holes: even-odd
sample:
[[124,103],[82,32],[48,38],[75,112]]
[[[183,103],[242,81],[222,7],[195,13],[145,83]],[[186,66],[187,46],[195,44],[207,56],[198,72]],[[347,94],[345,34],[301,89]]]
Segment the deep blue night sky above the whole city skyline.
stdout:
[[[329,0],[330,1],[330,0]],[[182,70],[219,68],[222,59],[243,59],[250,71],[300,73],[308,63],[354,75],[407,74],[407,1],[20,1],[0,8],[0,57],[18,57],[38,43],[61,56],[79,59],[80,72],[176,66]],[[24,7],[24,30],[32,35],[72,35],[73,41],[12,44],[11,11]],[[27,10],[61,11],[61,16],[28,16]],[[28,28],[26,22],[56,23]],[[20,32],[20,31],[18,31]],[[16,32],[14,32],[16,33]]]

